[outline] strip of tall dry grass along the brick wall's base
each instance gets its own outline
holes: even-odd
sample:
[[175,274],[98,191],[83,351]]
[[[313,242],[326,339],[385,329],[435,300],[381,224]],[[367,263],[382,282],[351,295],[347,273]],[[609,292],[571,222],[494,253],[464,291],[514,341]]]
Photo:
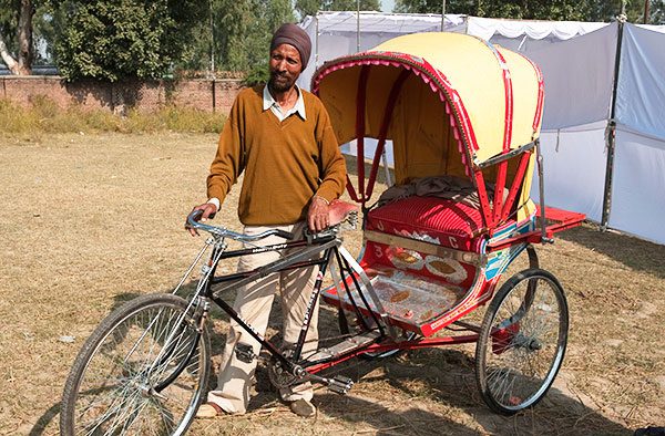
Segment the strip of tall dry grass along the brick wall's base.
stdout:
[[4,137],[40,138],[53,133],[218,133],[226,116],[186,107],[165,106],[155,112],[130,111],[126,116],[106,110],[81,106],[60,108],[47,96],[35,96],[30,105],[19,106],[0,100],[0,132]]

